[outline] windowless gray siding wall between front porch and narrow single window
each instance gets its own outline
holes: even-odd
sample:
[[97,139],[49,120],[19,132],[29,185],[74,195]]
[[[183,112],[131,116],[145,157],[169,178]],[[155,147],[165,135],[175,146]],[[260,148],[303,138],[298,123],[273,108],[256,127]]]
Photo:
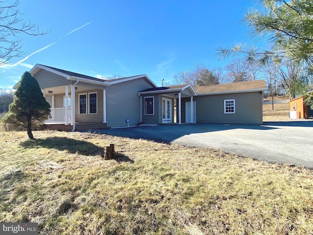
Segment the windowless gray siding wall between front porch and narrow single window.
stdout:
[[[107,125],[126,126],[140,122],[140,97],[138,92],[152,88],[145,78],[116,83],[107,88]],[[142,117],[144,113],[142,113]]]

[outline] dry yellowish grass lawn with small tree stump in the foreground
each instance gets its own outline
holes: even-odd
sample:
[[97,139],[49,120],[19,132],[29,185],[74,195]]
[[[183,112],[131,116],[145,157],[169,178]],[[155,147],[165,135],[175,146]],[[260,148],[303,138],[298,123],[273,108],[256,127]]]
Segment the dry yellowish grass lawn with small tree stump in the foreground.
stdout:
[[[311,170],[108,135],[34,136],[0,132],[0,222],[38,222],[45,235],[312,234]],[[111,142],[118,154],[104,161]]]

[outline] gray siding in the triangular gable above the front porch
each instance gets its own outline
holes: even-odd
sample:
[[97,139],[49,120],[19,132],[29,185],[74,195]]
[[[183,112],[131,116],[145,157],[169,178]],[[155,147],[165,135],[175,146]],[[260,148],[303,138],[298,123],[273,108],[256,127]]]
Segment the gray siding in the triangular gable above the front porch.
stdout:
[[34,77],[38,81],[41,89],[72,84],[72,81],[67,80],[65,77],[45,70],[38,71]]

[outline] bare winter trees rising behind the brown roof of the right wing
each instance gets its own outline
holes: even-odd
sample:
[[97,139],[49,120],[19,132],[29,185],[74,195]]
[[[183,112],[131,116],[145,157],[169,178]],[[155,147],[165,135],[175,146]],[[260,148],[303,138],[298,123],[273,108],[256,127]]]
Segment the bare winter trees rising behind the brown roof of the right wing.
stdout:
[[279,63],[268,60],[266,64],[262,64],[256,60],[247,61],[236,57],[224,68],[210,68],[202,63],[193,69],[181,71],[174,74],[173,84],[210,86],[259,79],[266,80],[268,95],[286,95],[292,99],[303,95],[308,86],[313,85],[313,71],[308,66],[292,63],[290,59]]

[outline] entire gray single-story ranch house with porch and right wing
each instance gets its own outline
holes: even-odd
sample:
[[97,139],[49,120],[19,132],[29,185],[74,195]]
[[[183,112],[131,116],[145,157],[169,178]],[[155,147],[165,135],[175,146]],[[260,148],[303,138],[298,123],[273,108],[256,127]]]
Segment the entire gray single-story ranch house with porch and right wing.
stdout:
[[139,123],[263,123],[264,80],[157,87],[146,74],[103,80],[40,64],[29,72],[51,106],[51,118],[44,123],[49,129],[74,131]]

